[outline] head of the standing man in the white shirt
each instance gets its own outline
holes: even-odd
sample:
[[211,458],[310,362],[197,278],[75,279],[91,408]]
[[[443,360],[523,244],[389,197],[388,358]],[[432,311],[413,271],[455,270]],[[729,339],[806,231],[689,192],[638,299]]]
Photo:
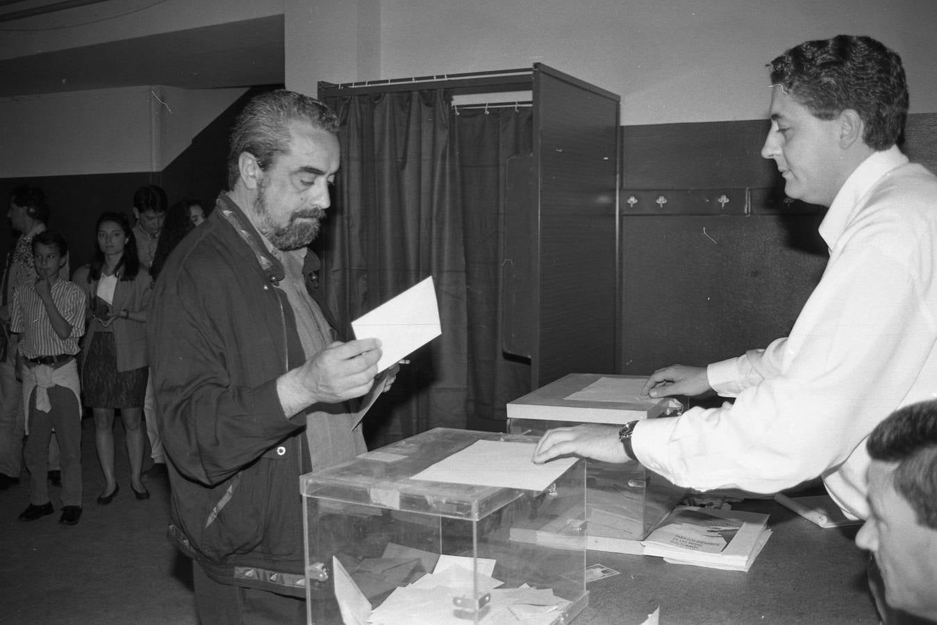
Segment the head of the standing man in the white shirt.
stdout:
[[830,206],[853,172],[898,141],[908,110],[901,59],[870,37],[807,41],[771,62],[771,158],[795,200]]

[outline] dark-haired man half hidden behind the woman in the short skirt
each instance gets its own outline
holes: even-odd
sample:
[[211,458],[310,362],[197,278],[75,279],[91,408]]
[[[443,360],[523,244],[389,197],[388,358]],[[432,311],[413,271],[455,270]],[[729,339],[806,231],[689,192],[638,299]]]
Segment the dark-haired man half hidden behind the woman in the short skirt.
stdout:
[[[133,194],[133,216],[136,219],[133,236],[137,242],[137,257],[147,271],[156,256],[168,205],[166,191],[161,186],[141,186]],[[143,419],[146,422],[146,438],[150,441],[150,458],[153,465],[143,474],[147,477],[165,477],[166,454],[163,453],[163,443],[159,438],[155,410],[153,382],[147,381],[146,394],[143,397]]]

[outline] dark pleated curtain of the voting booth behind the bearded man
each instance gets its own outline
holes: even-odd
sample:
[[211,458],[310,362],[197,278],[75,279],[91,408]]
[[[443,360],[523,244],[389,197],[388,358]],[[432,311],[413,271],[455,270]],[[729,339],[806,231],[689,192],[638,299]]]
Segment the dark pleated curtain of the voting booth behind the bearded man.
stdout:
[[[468,201],[464,193],[460,160],[467,155],[459,145],[465,138],[454,126],[468,117],[454,115],[451,94],[443,90],[326,101],[338,113],[342,145],[335,205],[317,245],[328,305],[353,320],[428,275],[439,300],[442,335],[409,357],[393,390],[371,409],[369,446],[431,427],[466,427],[479,412],[490,423],[491,389],[498,384],[478,389],[500,369],[492,363],[500,353],[500,202]],[[500,148],[490,152],[494,159],[503,156]],[[482,183],[494,184],[496,194],[497,170]],[[475,214],[479,208],[483,215]]]

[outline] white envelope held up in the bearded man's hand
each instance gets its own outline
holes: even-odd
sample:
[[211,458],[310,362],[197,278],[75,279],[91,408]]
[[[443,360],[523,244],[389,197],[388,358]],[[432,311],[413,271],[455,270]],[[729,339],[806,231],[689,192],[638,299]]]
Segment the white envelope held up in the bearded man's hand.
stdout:
[[433,276],[351,321],[355,338],[379,338],[383,371],[442,334]]

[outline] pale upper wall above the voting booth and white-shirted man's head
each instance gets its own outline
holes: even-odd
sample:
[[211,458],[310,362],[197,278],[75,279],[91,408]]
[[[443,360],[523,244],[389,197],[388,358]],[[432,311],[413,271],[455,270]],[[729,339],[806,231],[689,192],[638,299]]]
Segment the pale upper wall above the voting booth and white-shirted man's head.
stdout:
[[369,47],[353,22],[363,4],[324,0],[313,10],[285,0],[288,23],[304,11],[340,16],[310,19],[305,37],[288,37],[288,87],[314,93],[322,80],[543,62],[620,95],[625,125],[759,119],[771,59],[801,41],[846,33],[899,52],[912,112],[937,112],[935,0],[381,0],[376,73],[357,62]]

